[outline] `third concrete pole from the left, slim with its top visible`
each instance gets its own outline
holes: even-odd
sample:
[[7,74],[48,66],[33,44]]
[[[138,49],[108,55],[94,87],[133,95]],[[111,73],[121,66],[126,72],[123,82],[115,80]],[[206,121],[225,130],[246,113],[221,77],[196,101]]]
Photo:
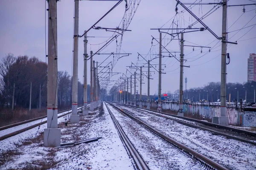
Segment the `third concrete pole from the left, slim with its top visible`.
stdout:
[[[86,31],[84,31],[86,32]],[[84,34],[84,108],[83,108],[83,115],[88,115],[87,109],[87,33]]]

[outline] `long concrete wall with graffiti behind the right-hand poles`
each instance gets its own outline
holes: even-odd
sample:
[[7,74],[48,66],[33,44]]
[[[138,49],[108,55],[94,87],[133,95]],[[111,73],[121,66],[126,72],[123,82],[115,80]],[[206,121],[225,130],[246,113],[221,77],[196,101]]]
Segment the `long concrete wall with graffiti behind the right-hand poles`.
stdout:
[[[143,106],[147,106],[146,102],[143,102]],[[157,108],[157,103],[151,103],[151,108]],[[162,109],[166,111],[174,111],[177,113],[179,109],[178,103],[164,102],[162,103]],[[195,119],[202,119],[203,115],[208,122],[212,121],[213,116],[220,116],[221,108],[218,105],[191,105],[183,104],[183,113],[187,117]],[[227,107],[227,116],[229,118],[229,125],[244,126],[244,127],[256,127],[256,112],[245,111],[240,112],[236,108]]]

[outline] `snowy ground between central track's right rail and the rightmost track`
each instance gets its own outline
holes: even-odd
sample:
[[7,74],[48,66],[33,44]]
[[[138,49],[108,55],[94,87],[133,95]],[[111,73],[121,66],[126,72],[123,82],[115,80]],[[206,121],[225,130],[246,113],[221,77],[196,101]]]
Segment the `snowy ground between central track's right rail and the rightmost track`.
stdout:
[[239,142],[234,139],[226,139],[208,131],[187,127],[173,120],[155,116],[136,108],[119,105],[123,110],[147,123],[161,133],[185,144],[187,147],[209,157],[233,170],[256,169],[256,146]]

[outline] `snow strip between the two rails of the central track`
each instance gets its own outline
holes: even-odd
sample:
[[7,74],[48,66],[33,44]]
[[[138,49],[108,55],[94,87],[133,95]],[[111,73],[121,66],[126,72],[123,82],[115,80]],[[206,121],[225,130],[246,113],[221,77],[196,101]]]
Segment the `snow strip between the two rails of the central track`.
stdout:
[[200,170],[200,164],[109,105],[134,147],[151,170]]

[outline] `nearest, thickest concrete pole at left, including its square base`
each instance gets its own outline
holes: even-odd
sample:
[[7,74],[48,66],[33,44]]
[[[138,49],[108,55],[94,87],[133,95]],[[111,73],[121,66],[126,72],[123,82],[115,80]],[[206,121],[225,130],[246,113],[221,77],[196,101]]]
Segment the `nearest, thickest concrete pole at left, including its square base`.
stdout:
[[58,129],[57,89],[57,1],[48,0],[48,69],[47,69],[47,129],[44,129],[44,146],[61,146],[61,129]]

